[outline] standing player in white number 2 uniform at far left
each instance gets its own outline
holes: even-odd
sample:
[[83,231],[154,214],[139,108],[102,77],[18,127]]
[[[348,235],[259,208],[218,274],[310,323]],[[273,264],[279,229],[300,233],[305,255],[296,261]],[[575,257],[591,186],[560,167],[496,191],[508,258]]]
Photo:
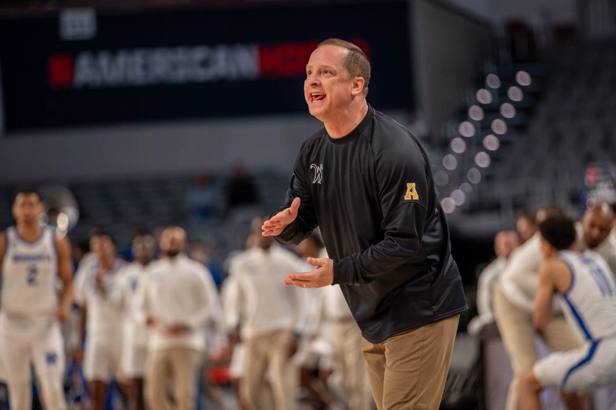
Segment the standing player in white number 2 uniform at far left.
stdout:
[[[10,408],[31,408],[33,364],[45,408],[65,409],[59,321],[66,320],[73,297],[71,248],[52,227],[39,224],[43,204],[36,191],[21,189],[12,212],[16,226],[0,234],[0,358]],[[63,284],[60,297],[58,277]]]

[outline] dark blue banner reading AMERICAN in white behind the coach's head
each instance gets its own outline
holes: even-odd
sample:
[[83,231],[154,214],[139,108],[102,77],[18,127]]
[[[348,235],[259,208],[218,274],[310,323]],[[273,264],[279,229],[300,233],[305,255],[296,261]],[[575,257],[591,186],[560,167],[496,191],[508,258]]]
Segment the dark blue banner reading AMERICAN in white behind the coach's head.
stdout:
[[65,10],[0,20],[6,129],[306,112],[310,52],[339,37],[368,54],[368,101],[410,108],[405,1]]

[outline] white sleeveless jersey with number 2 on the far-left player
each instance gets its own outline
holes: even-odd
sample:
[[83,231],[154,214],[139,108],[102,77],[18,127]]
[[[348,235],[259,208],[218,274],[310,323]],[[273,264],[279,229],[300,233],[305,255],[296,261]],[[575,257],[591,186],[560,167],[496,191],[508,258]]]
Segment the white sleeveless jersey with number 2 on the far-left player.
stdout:
[[58,307],[55,231],[43,227],[33,242],[17,228],[6,230],[2,260],[2,312],[14,316],[53,315]]

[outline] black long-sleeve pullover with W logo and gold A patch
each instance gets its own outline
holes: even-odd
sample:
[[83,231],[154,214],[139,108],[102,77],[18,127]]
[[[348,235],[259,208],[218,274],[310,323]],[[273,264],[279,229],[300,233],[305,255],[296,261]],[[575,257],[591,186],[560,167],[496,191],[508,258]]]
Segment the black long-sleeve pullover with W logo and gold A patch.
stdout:
[[368,341],[468,309],[428,158],[402,125],[368,106],[349,135],[322,128],[302,144],[272,215],[295,197],[298,217],[276,239],[297,244],[320,227],[333,283]]

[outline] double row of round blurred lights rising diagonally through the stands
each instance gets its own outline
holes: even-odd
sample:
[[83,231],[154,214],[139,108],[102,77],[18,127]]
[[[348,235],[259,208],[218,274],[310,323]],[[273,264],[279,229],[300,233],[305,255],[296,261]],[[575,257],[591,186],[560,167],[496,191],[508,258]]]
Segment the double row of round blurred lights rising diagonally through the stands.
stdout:
[[[527,87],[531,84],[532,79],[530,74],[526,71],[518,71],[516,73],[516,82],[522,87]],[[496,74],[488,74],[485,77],[485,84],[491,89],[499,89],[501,87],[500,78]],[[487,105],[491,104],[493,101],[492,92],[487,89],[477,90],[475,97],[480,104]],[[517,85],[511,85],[511,87],[507,89],[507,97],[511,101],[519,102],[524,99],[524,92],[522,92],[522,89]],[[499,112],[501,117],[506,119],[512,119],[516,116],[516,108],[513,104],[508,102],[501,104]],[[474,121],[481,121],[485,117],[484,109],[478,104],[473,104],[468,109],[468,117]],[[498,135],[504,135],[507,132],[507,124],[505,120],[497,118],[492,121],[492,124],[490,124],[490,129],[492,130],[492,133],[484,136],[482,143],[487,151],[496,151],[500,148],[500,140],[498,139]],[[464,138],[471,138],[475,136],[477,130],[472,122],[463,121],[458,126],[458,132],[461,137],[458,136],[453,138],[450,143],[450,149],[455,154],[463,154],[467,148]],[[475,154],[474,162],[479,168],[487,168],[490,166],[492,159],[490,158],[490,154],[486,151],[479,151]],[[458,167],[458,159],[456,159],[453,154],[445,155],[443,157],[443,167],[449,171],[455,170]],[[472,184],[479,184],[481,181],[481,171],[477,167],[470,168],[466,173],[466,178]],[[449,183],[449,175],[447,174],[447,171],[437,171],[434,174],[434,183],[439,186],[447,186]],[[471,184],[468,182],[460,184],[458,189],[454,189],[448,197],[440,201],[445,213],[453,213],[456,207],[463,205],[464,202],[466,202],[467,195],[471,194],[471,192]]]

